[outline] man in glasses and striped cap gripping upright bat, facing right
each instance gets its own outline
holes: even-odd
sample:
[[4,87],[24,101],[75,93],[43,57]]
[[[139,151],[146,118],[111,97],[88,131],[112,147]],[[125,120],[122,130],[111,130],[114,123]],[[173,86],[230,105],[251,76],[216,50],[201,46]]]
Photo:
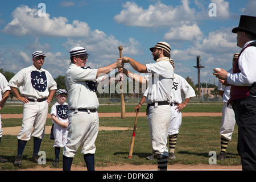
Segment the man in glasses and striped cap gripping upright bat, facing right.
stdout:
[[96,95],[96,81],[112,69],[122,68],[121,60],[98,69],[85,68],[89,54],[84,47],[75,47],[70,51],[71,63],[66,72],[68,90],[68,142],[63,148],[63,170],[70,171],[73,158],[81,146],[81,153],[88,171],[94,171],[94,144],[98,134],[99,106]]

